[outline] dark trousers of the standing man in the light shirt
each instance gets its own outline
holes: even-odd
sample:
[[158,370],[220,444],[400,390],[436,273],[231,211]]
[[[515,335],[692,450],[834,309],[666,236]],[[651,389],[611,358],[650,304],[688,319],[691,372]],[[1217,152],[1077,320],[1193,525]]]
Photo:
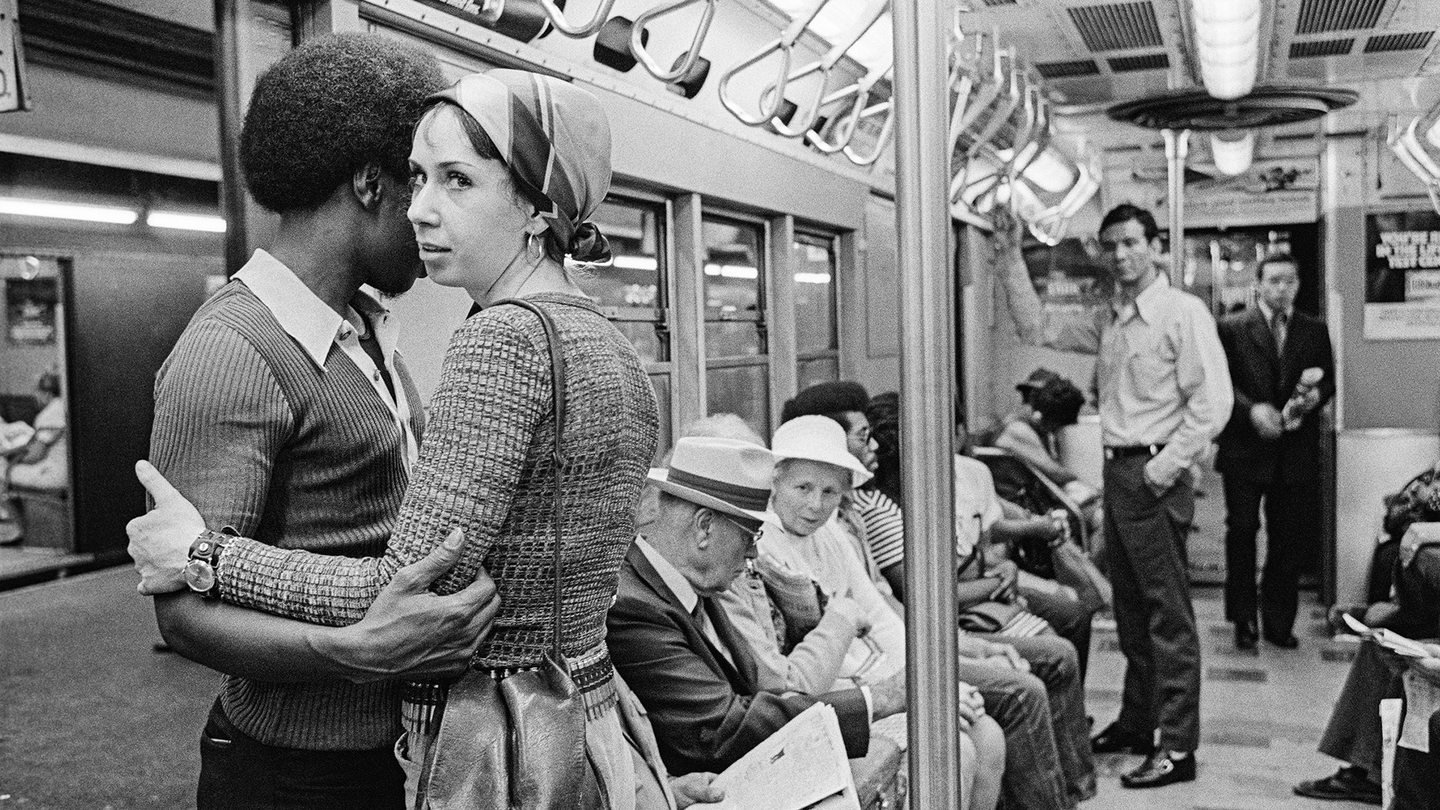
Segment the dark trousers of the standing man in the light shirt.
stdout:
[[1115,630],[1125,654],[1119,726],[1159,729],[1159,745],[1200,745],[1200,636],[1189,602],[1185,540],[1195,516],[1189,473],[1156,496],[1148,455],[1104,463],[1104,536],[1115,585]]

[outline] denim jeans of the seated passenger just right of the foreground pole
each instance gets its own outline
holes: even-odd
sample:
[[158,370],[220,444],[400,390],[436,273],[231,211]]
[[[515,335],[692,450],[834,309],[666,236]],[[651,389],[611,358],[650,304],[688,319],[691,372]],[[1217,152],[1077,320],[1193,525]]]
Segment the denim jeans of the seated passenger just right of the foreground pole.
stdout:
[[960,680],[985,698],[1005,732],[1007,807],[1068,810],[1094,796],[1094,761],[1074,647],[1054,636],[996,638],[1012,644],[1031,673],[960,659]]

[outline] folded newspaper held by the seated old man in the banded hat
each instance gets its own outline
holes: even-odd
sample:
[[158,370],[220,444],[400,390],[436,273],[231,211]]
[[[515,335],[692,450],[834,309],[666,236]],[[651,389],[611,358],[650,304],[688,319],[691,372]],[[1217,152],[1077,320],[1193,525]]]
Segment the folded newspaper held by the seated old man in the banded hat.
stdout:
[[716,777],[723,810],[860,810],[835,709],[815,703]]

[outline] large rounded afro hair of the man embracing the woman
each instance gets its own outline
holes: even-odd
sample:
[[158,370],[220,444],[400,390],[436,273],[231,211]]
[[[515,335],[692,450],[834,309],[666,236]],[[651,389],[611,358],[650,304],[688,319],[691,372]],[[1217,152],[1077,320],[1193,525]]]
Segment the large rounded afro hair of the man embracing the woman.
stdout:
[[255,82],[240,128],[251,195],[275,212],[312,209],[367,163],[406,177],[415,123],[446,84],[435,56],[395,39],[305,42]]

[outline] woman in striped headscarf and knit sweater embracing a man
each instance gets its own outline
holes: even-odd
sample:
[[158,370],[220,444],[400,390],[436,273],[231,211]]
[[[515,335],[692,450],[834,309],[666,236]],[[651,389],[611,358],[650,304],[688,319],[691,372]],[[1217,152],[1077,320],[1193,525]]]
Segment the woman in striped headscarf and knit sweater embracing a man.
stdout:
[[[536,667],[553,643],[553,556],[562,540],[562,641],[586,709],[586,751],[611,807],[636,803],[605,614],[635,536],[635,506],[655,454],[655,396],[635,349],[585,297],[566,262],[609,258],[588,218],[611,183],[599,101],[549,76],[491,71],[432,97],[415,130],[409,219],[431,278],[467,290],[477,310],[445,355],[431,418],[382,558],[343,558],[235,539],[215,569],[217,595],[320,624],[357,621],[395,572],[464,532],[452,592],[484,565],[500,594],[472,669]],[[554,525],[554,385],[544,324],[504,304],[523,298],[556,324],[564,379],[564,525]],[[409,787],[435,744],[445,692],[410,685],[397,745]],[[446,718],[449,722],[449,718]],[[638,773],[641,771],[641,773]],[[664,793],[664,787],[661,787]]]

